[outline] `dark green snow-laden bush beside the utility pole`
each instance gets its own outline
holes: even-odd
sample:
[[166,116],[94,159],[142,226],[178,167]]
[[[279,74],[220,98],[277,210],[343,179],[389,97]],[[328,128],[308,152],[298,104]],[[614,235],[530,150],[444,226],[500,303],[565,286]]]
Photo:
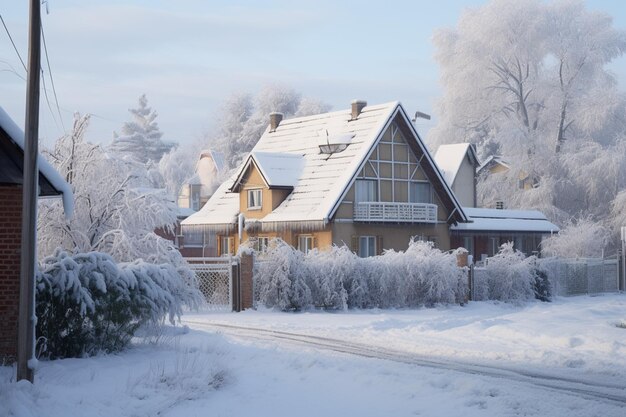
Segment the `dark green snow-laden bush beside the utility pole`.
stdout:
[[199,294],[188,268],[143,261],[117,264],[100,252],[57,251],[37,275],[37,337],[49,358],[123,349],[138,327],[174,323]]

